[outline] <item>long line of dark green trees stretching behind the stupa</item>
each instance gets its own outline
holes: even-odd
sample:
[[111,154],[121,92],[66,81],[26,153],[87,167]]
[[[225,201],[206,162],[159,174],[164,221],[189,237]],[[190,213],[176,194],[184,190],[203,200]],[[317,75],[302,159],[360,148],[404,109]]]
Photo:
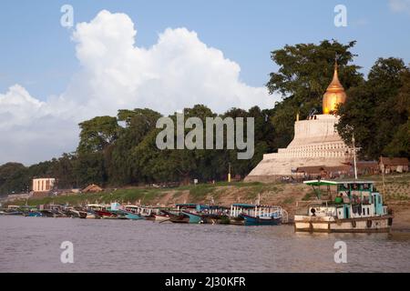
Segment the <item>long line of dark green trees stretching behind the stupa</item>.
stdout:
[[[322,110],[323,93],[333,77],[334,59],[347,91],[347,102],[338,107],[337,130],[346,144],[354,130],[360,157],[410,157],[410,69],[400,58],[379,58],[366,78],[354,65],[355,42],[341,44],[324,40],[320,44],[285,45],[272,51],[278,66],[267,88],[281,93],[282,100],[271,109],[231,108],[218,115],[205,105],[184,109],[190,116],[253,117],[255,153],[250,160],[238,160],[237,150],[159,150],[157,120],[162,116],[149,108],[118,110],[117,116],[96,116],[79,124],[77,150],[32,166],[7,163],[0,166],[0,194],[21,193],[36,176],[52,176],[60,188],[128,186],[146,183],[200,182],[224,180],[231,165],[232,176],[246,176],[263,154],[286,147],[292,141],[295,116],[307,118],[315,108]],[[175,119],[176,114],[170,115]],[[349,126],[347,126],[349,125]],[[187,130],[189,131],[189,130]]]

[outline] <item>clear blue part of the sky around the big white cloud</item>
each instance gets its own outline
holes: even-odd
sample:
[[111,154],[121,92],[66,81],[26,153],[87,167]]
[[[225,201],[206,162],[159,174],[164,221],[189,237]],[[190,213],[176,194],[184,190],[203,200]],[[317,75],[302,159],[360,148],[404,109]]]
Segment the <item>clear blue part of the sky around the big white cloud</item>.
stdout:
[[[261,86],[274,70],[270,51],[286,44],[335,38],[357,40],[354,52],[366,73],[379,56],[410,62],[410,12],[393,11],[388,0],[370,1],[2,1],[0,92],[18,83],[44,100],[65,90],[78,69],[71,30],[59,25],[60,7],[74,7],[75,23],[102,9],[129,15],[137,45],[149,47],[167,27],[187,27],[200,40],[241,65],[241,80]],[[333,25],[333,7],[347,7],[348,26]]]

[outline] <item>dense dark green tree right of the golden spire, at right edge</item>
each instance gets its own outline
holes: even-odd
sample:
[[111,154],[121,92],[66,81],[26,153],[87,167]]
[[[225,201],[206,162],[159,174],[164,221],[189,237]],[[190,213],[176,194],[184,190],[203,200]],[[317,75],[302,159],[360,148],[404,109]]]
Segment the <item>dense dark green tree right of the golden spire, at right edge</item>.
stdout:
[[[407,74],[403,60],[379,58],[370,70],[368,80],[347,92],[346,103],[338,109],[341,119],[337,130],[350,144],[352,131],[347,125],[354,128],[356,146],[361,148],[362,158],[404,155],[405,145],[400,143],[400,139],[405,134],[405,128],[401,126],[408,120],[406,89],[402,89]],[[399,145],[401,149],[395,148]]]

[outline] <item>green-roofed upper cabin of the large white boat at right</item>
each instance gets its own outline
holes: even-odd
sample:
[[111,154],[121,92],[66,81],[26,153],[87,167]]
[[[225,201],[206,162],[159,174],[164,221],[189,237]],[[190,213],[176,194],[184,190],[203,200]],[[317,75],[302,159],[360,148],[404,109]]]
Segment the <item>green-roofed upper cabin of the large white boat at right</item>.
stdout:
[[[305,181],[304,184],[313,186],[318,199],[326,187],[330,200],[322,201],[309,207],[309,216],[333,216],[338,219],[358,217],[373,217],[387,215],[387,206],[384,206],[383,197],[375,192],[374,182],[371,181]],[[331,190],[335,187],[335,191]]]

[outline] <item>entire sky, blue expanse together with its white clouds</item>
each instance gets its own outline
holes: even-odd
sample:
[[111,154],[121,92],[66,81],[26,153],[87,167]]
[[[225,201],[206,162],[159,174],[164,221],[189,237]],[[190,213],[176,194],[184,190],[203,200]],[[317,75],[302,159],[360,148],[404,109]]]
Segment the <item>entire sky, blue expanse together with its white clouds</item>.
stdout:
[[120,108],[272,107],[270,52],[284,45],[356,40],[364,75],[378,57],[409,64],[409,28],[410,0],[2,1],[0,165],[72,152],[79,122]]

